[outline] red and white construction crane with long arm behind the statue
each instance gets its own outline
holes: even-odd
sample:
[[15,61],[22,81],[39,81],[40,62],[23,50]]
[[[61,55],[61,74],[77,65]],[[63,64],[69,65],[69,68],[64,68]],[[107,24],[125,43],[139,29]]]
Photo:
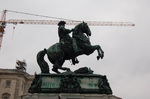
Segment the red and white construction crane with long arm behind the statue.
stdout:
[[[9,19],[9,20],[6,20],[6,13],[7,12],[20,13],[20,14],[45,17],[45,18],[52,18],[55,20],[26,20],[26,19]],[[4,29],[6,27],[6,24],[56,25],[56,24],[58,24],[58,22],[60,20],[66,21],[67,25],[77,25],[77,24],[82,22],[82,21],[70,20],[70,19],[64,19],[64,18],[58,18],[58,17],[43,16],[43,15],[38,15],[38,14],[24,13],[24,12],[12,11],[12,10],[4,10],[2,12],[2,16],[1,16],[1,20],[0,20],[0,48],[1,48]],[[85,22],[89,26],[135,26],[131,22],[111,22],[111,21],[85,21]]]

